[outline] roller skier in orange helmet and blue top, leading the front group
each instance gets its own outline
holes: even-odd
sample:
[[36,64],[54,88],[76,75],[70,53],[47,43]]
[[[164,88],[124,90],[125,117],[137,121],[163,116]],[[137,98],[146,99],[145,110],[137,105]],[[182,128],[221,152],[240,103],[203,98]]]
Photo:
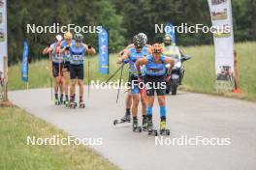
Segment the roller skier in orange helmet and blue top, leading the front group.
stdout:
[[[136,62],[136,68],[139,72],[139,76],[142,76],[141,66],[145,65],[144,82],[147,96],[146,115],[147,129],[149,133],[153,130],[152,107],[154,103],[155,92],[157,94],[157,99],[160,106],[160,133],[169,131],[169,129],[166,128],[165,79],[170,79],[175,60],[170,57],[166,57],[162,53],[162,46],[159,43],[155,43],[152,45],[152,55],[147,55],[143,59],[140,59]],[[166,64],[171,65],[170,69],[167,71],[167,76],[165,67]]]

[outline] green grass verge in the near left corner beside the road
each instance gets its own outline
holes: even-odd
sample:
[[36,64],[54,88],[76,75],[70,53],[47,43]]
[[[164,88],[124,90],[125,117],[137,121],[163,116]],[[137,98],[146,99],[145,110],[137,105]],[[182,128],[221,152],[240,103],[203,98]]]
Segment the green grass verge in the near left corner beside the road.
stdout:
[[83,146],[26,145],[28,135],[44,138],[67,137],[68,134],[17,107],[1,107],[0,134],[1,170],[117,169]]

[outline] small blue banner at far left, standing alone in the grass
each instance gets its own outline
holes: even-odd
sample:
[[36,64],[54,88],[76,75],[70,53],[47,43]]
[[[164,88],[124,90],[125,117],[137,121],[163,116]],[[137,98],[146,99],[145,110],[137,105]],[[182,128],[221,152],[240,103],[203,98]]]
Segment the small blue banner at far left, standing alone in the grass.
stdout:
[[23,42],[23,54],[21,63],[21,79],[24,82],[28,82],[28,44]]

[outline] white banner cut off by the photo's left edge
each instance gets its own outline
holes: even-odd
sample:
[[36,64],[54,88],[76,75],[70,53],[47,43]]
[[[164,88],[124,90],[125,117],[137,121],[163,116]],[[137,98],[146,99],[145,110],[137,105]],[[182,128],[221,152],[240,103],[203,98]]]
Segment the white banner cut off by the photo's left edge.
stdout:
[[3,57],[7,56],[7,0],[0,0],[0,71],[4,70]]

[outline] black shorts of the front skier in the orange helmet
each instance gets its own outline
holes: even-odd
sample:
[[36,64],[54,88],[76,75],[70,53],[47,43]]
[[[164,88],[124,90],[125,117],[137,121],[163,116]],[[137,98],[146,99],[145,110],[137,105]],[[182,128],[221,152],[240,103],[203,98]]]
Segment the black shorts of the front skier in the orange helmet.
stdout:
[[154,92],[156,92],[157,96],[164,96],[166,94],[165,75],[145,75],[144,83],[147,96],[154,96]]

